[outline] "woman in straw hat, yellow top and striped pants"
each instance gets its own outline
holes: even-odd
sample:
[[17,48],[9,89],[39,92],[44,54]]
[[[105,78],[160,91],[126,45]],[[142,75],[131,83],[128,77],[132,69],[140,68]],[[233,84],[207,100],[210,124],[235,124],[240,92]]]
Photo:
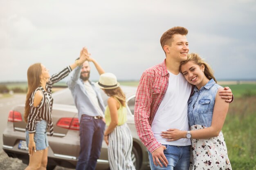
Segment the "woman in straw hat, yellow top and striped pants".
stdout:
[[110,98],[105,110],[106,125],[104,140],[108,145],[108,160],[111,170],[135,170],[132,163],[132,135],[126,124],[126,97],[119,87],[117,77],[103,73],[96,83]]

